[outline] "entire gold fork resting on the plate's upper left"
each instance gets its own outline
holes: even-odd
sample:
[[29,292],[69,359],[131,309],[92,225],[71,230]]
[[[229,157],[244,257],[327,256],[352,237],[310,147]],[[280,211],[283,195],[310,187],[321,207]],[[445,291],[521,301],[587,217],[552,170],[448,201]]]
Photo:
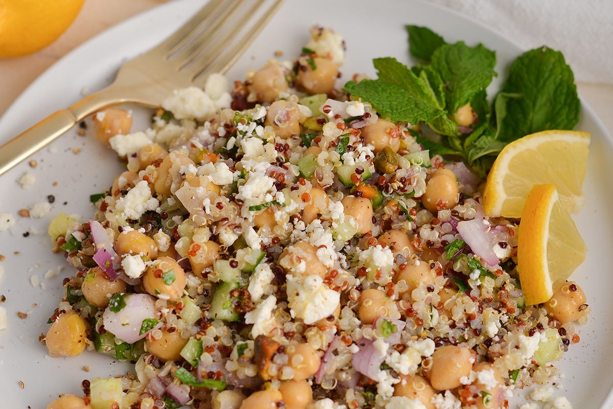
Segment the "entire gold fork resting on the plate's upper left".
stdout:
[[259,10],[265,1],[210,0],[164,42],[126,62],[110,86],[0,146],[0,175],[101,108],[116,103],[159,107],[173,89],[203,86],[209,73],[225,73],[282,3],[275,0]]

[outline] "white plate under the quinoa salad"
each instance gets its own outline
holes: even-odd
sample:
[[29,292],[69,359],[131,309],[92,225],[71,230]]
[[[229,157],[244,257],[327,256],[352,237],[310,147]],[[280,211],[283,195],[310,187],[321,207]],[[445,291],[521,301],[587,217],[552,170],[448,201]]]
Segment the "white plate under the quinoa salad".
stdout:
[[[199,0],[169,2],[104,32],[68,54],[34,81],[0,119],[0,143],[109,83],[124,59],[153,47],[200,4]],[[288,59],[295,56],[308,39],[312,24],[328,26],[345,37],[347,60],[343,80],[357,72],[374,75],[372,58],[395,56],[409,62],[405,24],[428,26],[447,41],[465,40],[473,45],[482,42],[496,50],[500,73],[497,81],[505,77],[509,61],[521,51],[489,29],[415,0],[288,1],[229,72],[230,79],[243,79],[247,69],[262,66],[277,50],[283,51]],[[613,141],[585,104],[577,129],[592,133],[592,144],[584,185],[587,208],[576,216],[589,250],[587,260],[573,279],[585,288],[593,313],[590,323],[581,328],[581,342],[571,345],[559,362],[566,379],[555,393],[567,396],[576,408],[611,409],[613,325],[609,313],[613,312],[610,296],[613,274],[608,256],[613,246],[613,214],[609,210],[613,203],[613,174],[609,165]],[[80,152],[75,154],[75,148]],[[46,234],[51,215],[59,211],[91,215],[89,195],[110,186],[121,166],[113,152],[97,141],[77,136],[74,130],[32,159],[38,162],[36,168],[21,163],[0,178],[0,212],[10,212],[17,219],[11,231],[0,233],[0,254],[6,257],[0,262],[4,268],[0,294],[7,298],[3,305],[9,317],[9,328],[0,331],[0,407],[7,408],[44,408],[58,392],[80,394],[80,383],[85,378],[108,377],[129,367],[96,353],[51,359],[38,342],[39,335],[47,332],[47,319],[62,296],[62,279],[72,274],[63,257],[51,253]],[[35,186],[27,190],[17,183],[25,172],[36,176]],[[44,219],[18,216],[18,209],[45,201],[47,195],[55,197],[50,216]],[[30,232],[28,237],[23,236],[26,231]],[[46,278],[47,271],[59,274]],[[18,312],[26,312],[28,317],[18,318]],[[85,367],[89,367],[89,372]],[[512,401],[511,407],[519,407],[519,402]]]

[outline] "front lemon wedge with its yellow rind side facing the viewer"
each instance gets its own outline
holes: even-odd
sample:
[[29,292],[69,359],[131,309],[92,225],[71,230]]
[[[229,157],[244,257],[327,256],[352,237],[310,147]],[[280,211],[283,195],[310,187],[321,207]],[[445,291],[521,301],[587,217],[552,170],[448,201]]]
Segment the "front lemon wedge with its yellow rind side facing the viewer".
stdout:
[[584,261],[587,248],[553,184],[530,190],[521,217],[517,272],[526,304],[540,304]]

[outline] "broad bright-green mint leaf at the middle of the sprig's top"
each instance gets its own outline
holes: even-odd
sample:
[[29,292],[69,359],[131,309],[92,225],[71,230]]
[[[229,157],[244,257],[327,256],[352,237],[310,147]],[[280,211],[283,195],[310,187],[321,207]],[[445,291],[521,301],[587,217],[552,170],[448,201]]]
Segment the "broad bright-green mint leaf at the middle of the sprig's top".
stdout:
[[464,42],[444,44],[432,54],[432,69],[445,84],[447,110],[454,113],[484,91],[497,74],[496,53],[479,44],[468,47]]

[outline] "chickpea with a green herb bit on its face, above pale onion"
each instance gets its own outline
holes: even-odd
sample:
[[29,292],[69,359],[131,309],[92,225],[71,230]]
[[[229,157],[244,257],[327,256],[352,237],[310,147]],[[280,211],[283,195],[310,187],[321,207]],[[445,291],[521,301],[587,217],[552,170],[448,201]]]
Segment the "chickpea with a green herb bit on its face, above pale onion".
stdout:
[[148,293],[171,301],[183,295],[185,284],[185,271],[177,260],[170,257],[159,257],[143,275],[143,286]]

